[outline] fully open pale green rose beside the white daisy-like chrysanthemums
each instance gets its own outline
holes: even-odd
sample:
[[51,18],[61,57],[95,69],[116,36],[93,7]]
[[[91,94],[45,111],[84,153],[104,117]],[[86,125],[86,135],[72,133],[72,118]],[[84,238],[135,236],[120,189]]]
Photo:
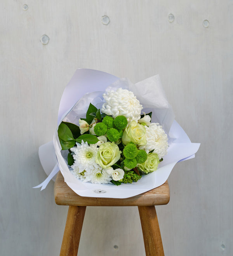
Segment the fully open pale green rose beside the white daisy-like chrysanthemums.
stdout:
[[100,145],[96,155],[96,162],[102,168],[108,169],[120,159],[118,146],[114,142],[106,142]]

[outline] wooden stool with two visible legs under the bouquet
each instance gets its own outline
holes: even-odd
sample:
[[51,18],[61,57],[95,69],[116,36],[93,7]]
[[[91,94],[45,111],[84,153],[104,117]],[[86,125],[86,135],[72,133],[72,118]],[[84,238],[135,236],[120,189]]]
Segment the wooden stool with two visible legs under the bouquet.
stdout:
[[169,202],[170,191],[167,181],[160,187],[130,198],[93,198],[76,194],[66,185],[61,172],[59,172],[54,184],[54,197],[57,205],[70,206],[60,256],[77,256],[87,206],[137,206],[146,256],[164,256],[155,205],[165,205]]

